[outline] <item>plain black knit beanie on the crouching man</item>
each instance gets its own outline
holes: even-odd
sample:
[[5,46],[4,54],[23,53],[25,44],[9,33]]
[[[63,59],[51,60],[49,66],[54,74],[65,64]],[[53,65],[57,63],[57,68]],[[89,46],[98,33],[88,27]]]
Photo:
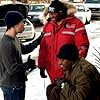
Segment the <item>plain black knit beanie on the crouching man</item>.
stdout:
[[73,44],[63,45],[57,55],[59,59],[67,59],[69,61],[76,61],[79,58],[78,49]]

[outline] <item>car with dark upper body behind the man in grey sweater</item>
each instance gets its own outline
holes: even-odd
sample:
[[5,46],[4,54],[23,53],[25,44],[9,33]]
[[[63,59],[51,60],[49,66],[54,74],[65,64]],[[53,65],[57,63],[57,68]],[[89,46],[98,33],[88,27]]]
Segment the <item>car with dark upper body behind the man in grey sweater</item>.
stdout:
[[3,4],[0,5],[0,39],[6,32],[6,25],[4,22],[4,16],[8,11],[19,11],[23,14],[25,21],[25,30],[22,33],[18,33],[17,37],[23,40],[32,40],[35,36],[35,29],[33,24],[27,19],[28,8],[24,4]]

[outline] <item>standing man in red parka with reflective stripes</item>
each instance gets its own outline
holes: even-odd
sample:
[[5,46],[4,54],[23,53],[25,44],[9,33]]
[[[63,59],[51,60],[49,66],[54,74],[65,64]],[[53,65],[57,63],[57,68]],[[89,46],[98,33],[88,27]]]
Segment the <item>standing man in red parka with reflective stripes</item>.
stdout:
[[40,44],[38,66],[42,78],[46,78],[45,69],[53,83],[62,77],[58,58],[60,47],[66,43],[77,46],[80,57],[86,57],[89,40],[84,24],[75,16],[67,15],[65,4],[55,0],[48,7],[51,20],[44,26],[44,37]]

